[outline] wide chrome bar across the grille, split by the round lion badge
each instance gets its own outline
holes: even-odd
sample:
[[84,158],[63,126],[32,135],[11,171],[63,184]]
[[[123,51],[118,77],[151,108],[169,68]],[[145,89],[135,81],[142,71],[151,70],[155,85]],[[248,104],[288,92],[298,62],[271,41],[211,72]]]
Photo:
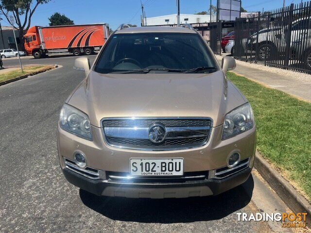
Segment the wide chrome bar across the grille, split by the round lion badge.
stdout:
[[[209,126],[166,127],[166,139],[206,137],[209,132],[203,131],[209,130]],[[149,127],[104,127],[104,133],[107,137],[149,139],[148,131]]]

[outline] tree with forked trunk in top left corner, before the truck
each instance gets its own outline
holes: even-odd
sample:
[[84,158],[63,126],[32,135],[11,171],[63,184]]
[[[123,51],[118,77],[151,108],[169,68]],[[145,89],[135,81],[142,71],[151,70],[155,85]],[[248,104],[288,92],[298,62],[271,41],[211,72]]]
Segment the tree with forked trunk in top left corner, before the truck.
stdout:
[[10,22],[10,15],[13,15],[19,31],[20,46],[24,49],[23,35],[30,27],[31,17],[39,4],[44,4],[50,0],[0,0],[0,12]]

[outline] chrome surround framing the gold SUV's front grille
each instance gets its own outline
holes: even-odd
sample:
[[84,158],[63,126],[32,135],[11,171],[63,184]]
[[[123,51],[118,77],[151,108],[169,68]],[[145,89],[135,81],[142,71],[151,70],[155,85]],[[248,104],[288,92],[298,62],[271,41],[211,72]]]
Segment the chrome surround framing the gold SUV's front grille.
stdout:
[[[108,143],[107,141],[107,138],[106,138],[106,135],[104,133],[104,125],[103,125],[103,121],[104,120],[128,120],[128,119],[172,119],[172,120],[187,120],[187,119],[193,119],[193,120],[210,120],[210,131],[209,131],[209,134],[207,135],[207,140],[200,146],[190,146],[190,147],[183,147],[183,148],[168,148],[168,149],[158,149],[158,148],[153,148],[153,149],[145,149],[145,148],[133,148],[133,147],[126,147],[126,146],[120,146],[120,145],[114,145],[114,144],[110,144]],[[200,148],[200,147],[203,147],[207,144],[207,142],[209,141],[209,138],[210,138],[210,135],[212,134],[212,131],[213,131],[213,124],[214,124],[214,121],[212,118],[210,117],[196,117],[196,116],[193,116],[193,117],[104,117],[103,119],[101,119],[101,131],[102,131],[102,134],[103,134],[103,138],[104,138],[104,142],[106,143],[106,145],[108,146],[111,146],[111,147],[115,147],[115,148],[119,148],[119,149],[128,149],[128,150],[143,150],[143,151],[169,151],[169,150],[188,150],[188,149],[194,149],[194,148]]]

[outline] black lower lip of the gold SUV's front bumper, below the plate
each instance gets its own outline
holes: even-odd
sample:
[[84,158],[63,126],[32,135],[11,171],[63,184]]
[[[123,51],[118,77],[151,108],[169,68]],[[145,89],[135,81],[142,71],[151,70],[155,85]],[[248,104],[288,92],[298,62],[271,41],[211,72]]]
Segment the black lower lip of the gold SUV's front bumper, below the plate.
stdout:
[[205,179],[184,183],[118,183],[109,180],[92,180],[66,167],[63,173],[69,183],[98,196],[163,199],[218,195],[244,183],[251,169],[248,166],[221,180]]

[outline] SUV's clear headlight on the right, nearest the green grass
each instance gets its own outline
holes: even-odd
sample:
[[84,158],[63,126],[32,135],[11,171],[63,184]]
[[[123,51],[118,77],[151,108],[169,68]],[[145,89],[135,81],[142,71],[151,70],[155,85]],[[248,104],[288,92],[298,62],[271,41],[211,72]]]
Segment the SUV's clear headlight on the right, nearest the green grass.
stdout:
[[254,127],[253,110],[249,103],[232,110],[225,115],[222,140],[248,131]]

